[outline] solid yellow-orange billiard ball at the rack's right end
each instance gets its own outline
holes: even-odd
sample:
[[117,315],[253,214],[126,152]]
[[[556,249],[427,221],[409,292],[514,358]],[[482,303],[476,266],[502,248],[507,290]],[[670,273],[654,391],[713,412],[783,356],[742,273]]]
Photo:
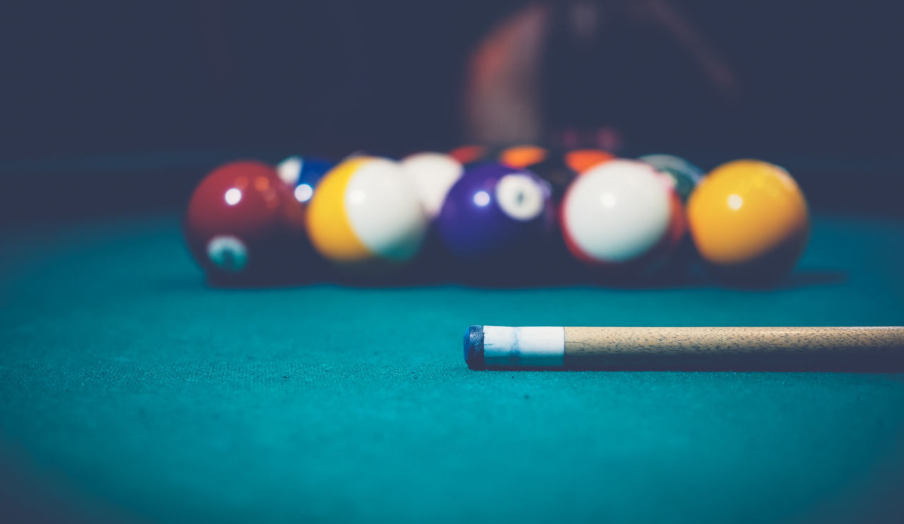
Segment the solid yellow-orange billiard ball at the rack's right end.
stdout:
[[804,194],[783,168],[736,160],[711,171],[688,201],[691,238],[717,275],[774,281],[794,267],[809,236]]

